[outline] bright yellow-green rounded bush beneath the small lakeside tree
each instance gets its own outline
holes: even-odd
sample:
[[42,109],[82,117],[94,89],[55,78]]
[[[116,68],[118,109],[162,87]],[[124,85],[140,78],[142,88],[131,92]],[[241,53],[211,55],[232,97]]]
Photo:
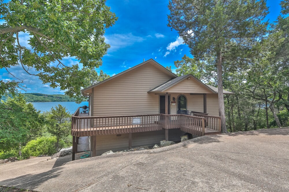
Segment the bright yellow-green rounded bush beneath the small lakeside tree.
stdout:
[[[22,149],[22,156],[39,156],[39,155],[53,155],[56,153],[56,137],[40,137],[36,140],[29,141]],[[60,149],[64,147],[64,141],[59,142]]]

